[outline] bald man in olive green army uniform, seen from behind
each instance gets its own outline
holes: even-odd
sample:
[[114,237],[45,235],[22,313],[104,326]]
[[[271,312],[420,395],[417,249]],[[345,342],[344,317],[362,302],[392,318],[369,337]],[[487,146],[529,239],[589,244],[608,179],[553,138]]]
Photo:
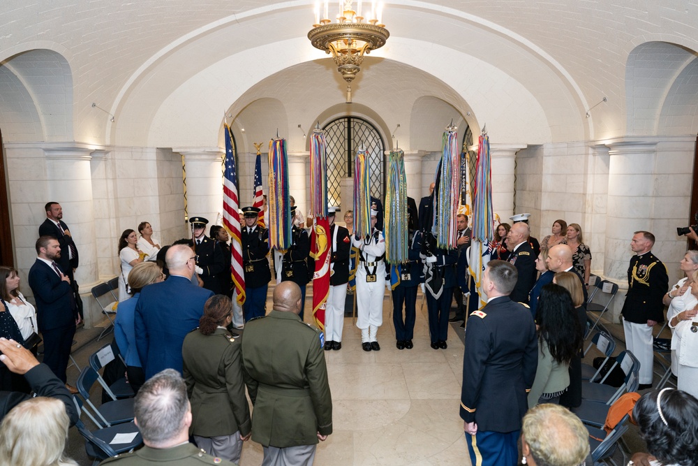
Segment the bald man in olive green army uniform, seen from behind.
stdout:
[[332,434],[325,340],[298,316],[301,300],[294,282],[276,285],[272,311],[248,321],[242,338],[252,439],[264,466],[312,465],[318,441]]

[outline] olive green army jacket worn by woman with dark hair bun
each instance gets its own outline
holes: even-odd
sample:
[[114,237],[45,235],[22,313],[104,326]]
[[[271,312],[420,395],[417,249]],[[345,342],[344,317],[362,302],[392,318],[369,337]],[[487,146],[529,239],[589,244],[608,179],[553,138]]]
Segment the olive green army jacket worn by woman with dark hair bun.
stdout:
[[211,335],[193,330],[181,349],[184,381],[191,401],[192,435],[217,437],[251,430],[240,358],[240,339],[225,328]]

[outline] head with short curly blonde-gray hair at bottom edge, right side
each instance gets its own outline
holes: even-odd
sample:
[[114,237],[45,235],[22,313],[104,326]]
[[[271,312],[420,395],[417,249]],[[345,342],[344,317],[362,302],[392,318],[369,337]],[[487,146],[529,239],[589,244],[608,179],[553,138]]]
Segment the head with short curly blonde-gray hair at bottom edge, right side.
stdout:
[[528,466],[579,466],[589,455],[589,432],[560,405],[529,409],[521,427],[521,463]]

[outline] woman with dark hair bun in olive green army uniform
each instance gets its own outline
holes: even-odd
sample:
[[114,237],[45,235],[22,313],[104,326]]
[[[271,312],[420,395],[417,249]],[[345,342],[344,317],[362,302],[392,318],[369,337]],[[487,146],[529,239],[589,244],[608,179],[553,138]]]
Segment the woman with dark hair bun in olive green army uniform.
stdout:
[[181,348],[184,381],[191,402],[191,435],[209,455],[239,463],[242,442],[252,421],[242,376],[240,340],[228,332],[232,322],[228,296],[211,296],[199,328],[188,333]]

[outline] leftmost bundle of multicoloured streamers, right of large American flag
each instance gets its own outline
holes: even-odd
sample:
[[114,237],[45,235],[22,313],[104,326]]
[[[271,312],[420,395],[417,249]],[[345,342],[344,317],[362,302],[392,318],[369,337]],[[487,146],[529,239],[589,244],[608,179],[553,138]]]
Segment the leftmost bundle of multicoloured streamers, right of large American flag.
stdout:
[[286,140],[269,141],[269,247],[279,250],[291,245],[291,207],[288,200],[288,156]]

